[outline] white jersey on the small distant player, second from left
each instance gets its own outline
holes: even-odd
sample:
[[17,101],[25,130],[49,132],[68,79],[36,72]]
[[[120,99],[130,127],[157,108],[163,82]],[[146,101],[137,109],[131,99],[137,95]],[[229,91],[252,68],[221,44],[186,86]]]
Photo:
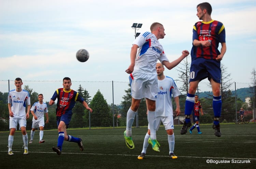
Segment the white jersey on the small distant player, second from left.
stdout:
[[40,104],[39,102],[35,102],[33,106],[30,108],[31,111],[37,116],[37,120],[33,117],[32,121],[44,121],[44,114],[48,113],[48,107],[46,103]]

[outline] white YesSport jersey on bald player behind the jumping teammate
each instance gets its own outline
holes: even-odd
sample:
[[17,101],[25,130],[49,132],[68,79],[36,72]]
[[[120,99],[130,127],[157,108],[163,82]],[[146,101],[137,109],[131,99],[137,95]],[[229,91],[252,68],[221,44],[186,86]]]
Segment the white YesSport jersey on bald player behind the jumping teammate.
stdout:
[[173,116],[172,96],[180,96],[181,93],[177,88],[174,80],[168,76],[165,79],[158,80],[158,95],[156,100],[156,117]]

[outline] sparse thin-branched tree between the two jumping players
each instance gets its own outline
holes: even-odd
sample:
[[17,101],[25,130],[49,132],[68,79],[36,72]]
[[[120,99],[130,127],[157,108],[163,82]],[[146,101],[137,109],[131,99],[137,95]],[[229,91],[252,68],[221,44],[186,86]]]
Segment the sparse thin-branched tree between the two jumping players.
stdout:
[[179,71],[178,74],[178,80],[179,82],[182,82],[183,85],[179,88],[180,92],[186,92],[186,94],[188,93],[188,89],[189,89],[189,77],[190,77],[190,72],[189,72],[189,68],[190,68],[190,63],[187,61],[187,57],[186,60],[183,60],[181,62],[181,65],[183,67],[178,67],[179,69],[176,69],[177,71]]

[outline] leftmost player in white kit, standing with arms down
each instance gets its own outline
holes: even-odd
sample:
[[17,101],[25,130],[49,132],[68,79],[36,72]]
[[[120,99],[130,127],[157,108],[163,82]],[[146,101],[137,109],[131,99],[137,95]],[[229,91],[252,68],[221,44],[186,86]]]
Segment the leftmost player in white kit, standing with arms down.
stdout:
[[[9,91],[8,94],[8,109],[10,115],[10,134],[8,138],[8,155],[13,155],[12,145],[14,133],[19,124],[20,130],[22,132],[22,138],[24,143],[24,153],[28,154],[28,134],[26,131],[27,120],[29,118],[30,110],[30,95],[27,90],[22,89],[22,79],[16,78],[14,82],[16,89]],[[26,113],[26,105],[27,113]]]

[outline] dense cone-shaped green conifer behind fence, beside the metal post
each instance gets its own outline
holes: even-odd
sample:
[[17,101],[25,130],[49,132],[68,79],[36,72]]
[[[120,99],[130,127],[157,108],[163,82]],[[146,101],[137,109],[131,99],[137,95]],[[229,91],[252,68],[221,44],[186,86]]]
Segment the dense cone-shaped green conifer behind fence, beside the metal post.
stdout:
[[[97,91],[93,100],[91,100],[90,107],[93,109],[91,113],[91,126],[112,126],[113,115],[100,90]],[[87,114],[85,116],[87,116]]]

